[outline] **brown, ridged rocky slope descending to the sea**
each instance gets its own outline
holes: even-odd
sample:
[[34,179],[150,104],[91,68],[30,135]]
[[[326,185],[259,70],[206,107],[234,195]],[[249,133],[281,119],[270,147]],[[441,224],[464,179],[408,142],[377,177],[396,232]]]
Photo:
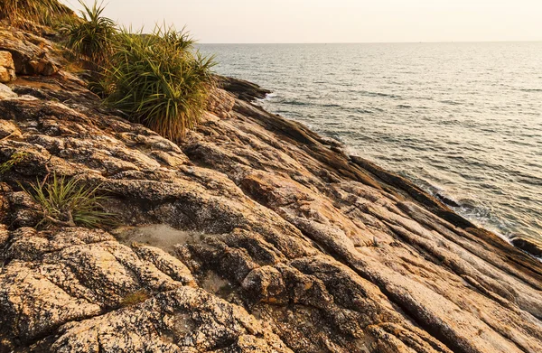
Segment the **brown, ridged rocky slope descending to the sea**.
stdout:
[[[537,260],[257,86],[225,79],[173,144],[54,43],[2,29],[0,51],[0,163],[25,156],[0,176],[0,352],[542,351]],[[51,172],[108,190],[118,227],[33,228],[19,183]]]

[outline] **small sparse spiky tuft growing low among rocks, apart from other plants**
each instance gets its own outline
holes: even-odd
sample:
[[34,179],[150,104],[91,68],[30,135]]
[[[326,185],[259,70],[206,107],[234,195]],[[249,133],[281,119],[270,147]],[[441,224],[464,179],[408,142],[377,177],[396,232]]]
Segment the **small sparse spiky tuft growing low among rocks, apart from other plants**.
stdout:
[[101,228],[112,224],[113,214],[103,210],[106,196],[98,195],[98,187],[89,188],[76,179],[52,176],[52,181],[39,182],[25,190],[42,208],[40,225]]

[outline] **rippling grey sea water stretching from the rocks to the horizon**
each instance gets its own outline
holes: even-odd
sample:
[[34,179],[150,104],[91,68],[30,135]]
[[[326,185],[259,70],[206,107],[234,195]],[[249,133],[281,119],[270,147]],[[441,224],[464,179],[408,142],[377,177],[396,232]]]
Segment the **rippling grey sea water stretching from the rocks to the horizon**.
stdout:
[[455,200],[503,237],[542,240],[542,42],[202,44],[267,110]]

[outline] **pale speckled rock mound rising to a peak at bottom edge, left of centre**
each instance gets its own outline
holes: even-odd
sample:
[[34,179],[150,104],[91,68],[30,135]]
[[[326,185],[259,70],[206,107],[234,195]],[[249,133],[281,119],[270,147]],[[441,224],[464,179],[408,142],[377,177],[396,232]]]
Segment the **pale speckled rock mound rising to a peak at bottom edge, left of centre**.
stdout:
[[[129,332],[129,335],[127,333]],[[55,352],[291,352],[247,311],[182,287],[61,329]]]

